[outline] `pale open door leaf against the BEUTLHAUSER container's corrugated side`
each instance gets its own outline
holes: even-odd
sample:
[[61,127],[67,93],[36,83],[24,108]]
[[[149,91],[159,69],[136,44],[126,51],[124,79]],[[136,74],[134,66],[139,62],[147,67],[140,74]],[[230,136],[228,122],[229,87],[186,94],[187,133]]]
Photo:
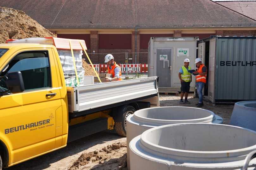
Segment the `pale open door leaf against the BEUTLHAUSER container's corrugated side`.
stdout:
[[208,99],[215,103],[214,98],[214,85],[215,85],[215,50],[216,50],[216,38],[210,39],[210,49],[209,49],[209,79],[208,79]]

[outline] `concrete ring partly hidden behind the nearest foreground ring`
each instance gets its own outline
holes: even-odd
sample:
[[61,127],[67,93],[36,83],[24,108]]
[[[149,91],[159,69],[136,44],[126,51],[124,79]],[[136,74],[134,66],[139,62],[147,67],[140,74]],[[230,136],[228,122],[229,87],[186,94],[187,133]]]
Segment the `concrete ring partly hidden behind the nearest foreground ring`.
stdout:
[[156,107],[136,111],[126,120],[127,129],[127,166],[130,168],[129,143],[153,127],[179,123],[221,124],[223,119],[212,111],[191,107]]

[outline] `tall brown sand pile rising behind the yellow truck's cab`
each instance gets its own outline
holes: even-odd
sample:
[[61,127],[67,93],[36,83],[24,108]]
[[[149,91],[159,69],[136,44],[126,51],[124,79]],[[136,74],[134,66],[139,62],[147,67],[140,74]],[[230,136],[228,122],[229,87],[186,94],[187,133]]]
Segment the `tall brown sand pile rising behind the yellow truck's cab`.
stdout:
[[0,7],[0,43],[8,39],[56,37],[23,11]]

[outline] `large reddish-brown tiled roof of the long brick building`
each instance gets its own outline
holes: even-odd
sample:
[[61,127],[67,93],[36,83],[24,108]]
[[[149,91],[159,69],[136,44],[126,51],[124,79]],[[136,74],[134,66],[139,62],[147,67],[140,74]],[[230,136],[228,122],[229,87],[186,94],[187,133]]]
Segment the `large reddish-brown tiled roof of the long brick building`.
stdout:
[[183,28],[254,26],[210,0],[0,0],[46,28]]

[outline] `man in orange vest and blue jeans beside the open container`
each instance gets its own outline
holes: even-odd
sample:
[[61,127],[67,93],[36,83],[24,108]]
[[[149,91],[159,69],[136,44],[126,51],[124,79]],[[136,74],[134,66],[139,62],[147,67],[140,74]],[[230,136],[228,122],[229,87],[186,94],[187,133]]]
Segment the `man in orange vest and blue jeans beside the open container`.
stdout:
[[197,104],[197,107],[202,107],[203,106],[203,87],[206,83],[207,67],[202,64],[201,58],[196,58],[195,64],[196,64],[196,67],[198,68],[197,71],[193,72],[193,75],[196,75],[197,94],[199,96],[199,102]]

